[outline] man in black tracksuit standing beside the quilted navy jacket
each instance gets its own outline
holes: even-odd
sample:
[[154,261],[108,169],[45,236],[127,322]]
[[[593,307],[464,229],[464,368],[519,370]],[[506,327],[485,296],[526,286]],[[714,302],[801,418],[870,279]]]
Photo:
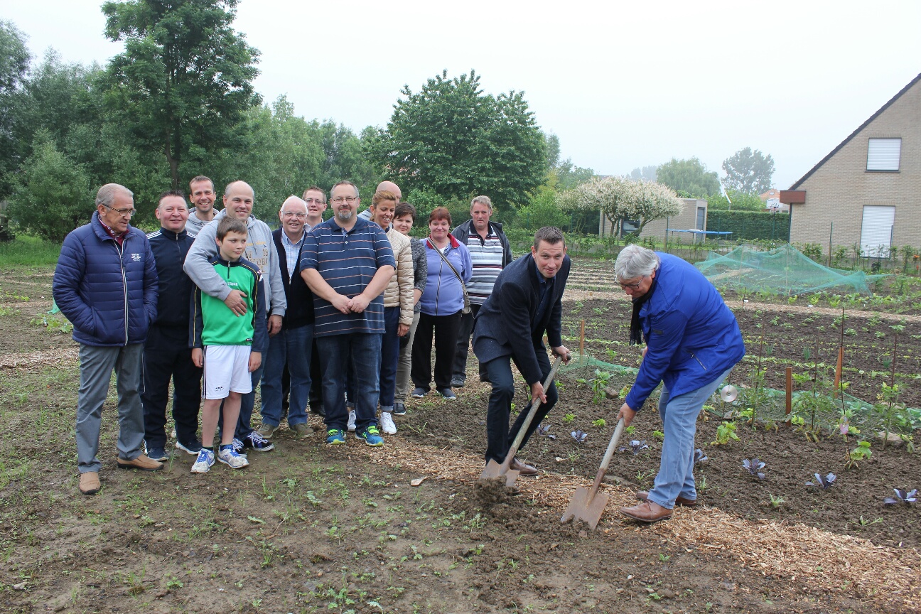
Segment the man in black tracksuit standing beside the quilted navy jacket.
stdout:
[[160,293],[157,319],[147,332],[144,346],[144,429],[147,455],[166,460],[167,401],[169,378],[173,380],[173,422],[176,424],[176,447],[197,455],[202,449],[198,439],[198,406],[202,399],[202,369],[192,363],[189,349],[189,309],[194,284],[182,271],[182,263],[192,247],[195,235],[185,230],[188,206],[181,191],[160,195],[157,219],[160,229],[147,235],[157,262]]

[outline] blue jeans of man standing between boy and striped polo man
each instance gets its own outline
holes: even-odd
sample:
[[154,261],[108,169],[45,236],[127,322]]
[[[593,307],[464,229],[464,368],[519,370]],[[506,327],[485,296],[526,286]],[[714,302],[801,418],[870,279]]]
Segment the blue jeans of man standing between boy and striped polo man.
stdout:
[[[262,423],[278,426],[282,420],[282,371],[291,375],[288,424],[307,423],[310,393],[310,356],[313,353],[313,324],[282,329],[269,338],[262,371]],[[287,363],[287,367],[286,367]]]

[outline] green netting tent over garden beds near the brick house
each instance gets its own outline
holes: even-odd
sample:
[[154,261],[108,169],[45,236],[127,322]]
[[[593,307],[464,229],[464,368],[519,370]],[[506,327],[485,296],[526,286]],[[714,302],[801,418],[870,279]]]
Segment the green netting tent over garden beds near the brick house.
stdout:
[[728,285],[737,291],[745,289],[752,293],[781,295],[832,289],[844,294],[870,294],[869,284],[886,277],[822,266],[790,245],[770,251],[746,245],[728,254],[711,251],[705,261],[694,266],[717,287]]

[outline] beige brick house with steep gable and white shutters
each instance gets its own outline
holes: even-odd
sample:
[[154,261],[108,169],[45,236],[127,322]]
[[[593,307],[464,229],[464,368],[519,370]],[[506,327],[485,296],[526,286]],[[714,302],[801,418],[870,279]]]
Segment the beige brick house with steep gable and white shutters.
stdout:
[[780,192],[790,205],[790,242],[859,245],[887,257],[921,247],[921,75],[841,145]]

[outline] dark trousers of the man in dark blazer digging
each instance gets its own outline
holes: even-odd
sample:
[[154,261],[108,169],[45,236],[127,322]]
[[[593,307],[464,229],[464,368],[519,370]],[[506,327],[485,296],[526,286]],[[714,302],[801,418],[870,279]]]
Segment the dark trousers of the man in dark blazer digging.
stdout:
[[[544,348],[534,348],[537,354],[537,364],[541,366],[541,380],[550,375],[550,359],[547,358],[547,351]],[[521,425],[530,411],[530,402],[520,411],[518,419],[508,428],[508,417],[512,409],[512,399],[515,397],[515,379],[512,377],[511,356],[500,356],[483,365],[485,372],[489,376],[489,381],[493,385],[493,391],[489,395],[489,409],[486,411],[486,462],[490,459],[497,463],[502,463],[506,459],[508,449],[512,446],[512,441],[518,435]],[[554,409],[558,395],[556,393],[556,384],[550,383],[550,388],[544,390],[547,395],[547,402],[541,403],[537,414],[531,421],[528,430],[525,432],[524,439],[521,440],[523,448],[528,443],[530,435],[537,430],[537,425],[541,423],[544,417]],[[530,388],[528,389],[530,397]]]

